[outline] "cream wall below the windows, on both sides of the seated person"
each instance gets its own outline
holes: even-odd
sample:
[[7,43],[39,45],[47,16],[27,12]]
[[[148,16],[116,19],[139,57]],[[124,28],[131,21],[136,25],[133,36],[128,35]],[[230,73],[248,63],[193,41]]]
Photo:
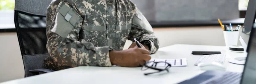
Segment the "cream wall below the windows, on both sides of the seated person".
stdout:
[[[222,29],[217,27],[154,28],[160,47],[173,44],[224,46]],[[0,82],[23,78],[24,69],[16,33],[0,33]],[[125,49],[131,44],[127,41]]]

